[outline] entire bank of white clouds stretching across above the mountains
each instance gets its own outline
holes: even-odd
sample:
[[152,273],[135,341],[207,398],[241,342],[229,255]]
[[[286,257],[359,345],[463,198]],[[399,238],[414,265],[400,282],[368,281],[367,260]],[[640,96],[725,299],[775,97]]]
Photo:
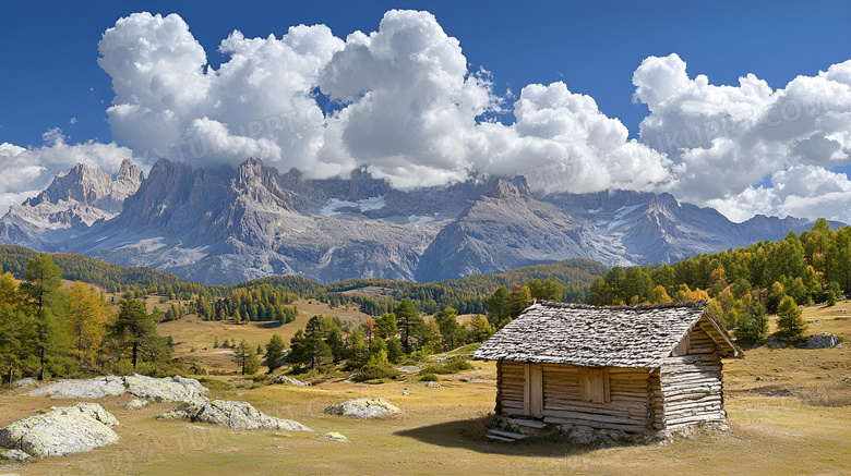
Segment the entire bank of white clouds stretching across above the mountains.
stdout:
[[[851,222],[851,181],[832,170],[850,162],[851,61],[772,89],[753,74],[712,85],[690,77],[676,54],[647,58],[633,75],[634,99],[650,111],[636,141],[564,83],[495,94],[489,73],[471,71],[428,12],[393,10],[375,32],[345,39],[325,25],[279,38],[235,30],[218,46],[218,68],[177,14],[121,19],[98,49],[115,90],[112,135],[147,166],[256,157],[325,178],[365,163],[401,188],[524,174],[538,193],[670,192],[735,221],[764,213]],[[514,122],[488,119],[494,112]],[[0,146],[3,167],[27,164],[29,178],[0,182],[0,206],[40,191],[71,157],[118,163],[129,152],[50,141]]]

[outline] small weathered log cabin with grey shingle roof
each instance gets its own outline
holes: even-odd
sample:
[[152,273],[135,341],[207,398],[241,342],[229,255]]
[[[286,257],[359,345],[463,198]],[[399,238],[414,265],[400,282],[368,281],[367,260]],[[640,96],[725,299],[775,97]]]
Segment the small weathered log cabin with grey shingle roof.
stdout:
[[743,354],[706,304],[534,304],[472,355],[496,361],[498,415],[636,434],[726,424],[721,359]]

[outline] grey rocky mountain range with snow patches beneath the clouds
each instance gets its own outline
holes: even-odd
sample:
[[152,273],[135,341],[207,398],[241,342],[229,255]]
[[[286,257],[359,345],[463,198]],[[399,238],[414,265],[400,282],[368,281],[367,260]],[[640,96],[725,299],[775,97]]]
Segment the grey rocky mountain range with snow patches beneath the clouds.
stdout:
[[160,160],[144,179],[77,166],[0,219],[0,242],[72,252],[229,284],[269,274],[321,282],[421,282],[584,257],[607,266],[673,261],[779,240],[806,220],[733,223],[668,194],[537,197],[523,176],[413,191],[367,168],[312,180],[249,159],[192,169]]

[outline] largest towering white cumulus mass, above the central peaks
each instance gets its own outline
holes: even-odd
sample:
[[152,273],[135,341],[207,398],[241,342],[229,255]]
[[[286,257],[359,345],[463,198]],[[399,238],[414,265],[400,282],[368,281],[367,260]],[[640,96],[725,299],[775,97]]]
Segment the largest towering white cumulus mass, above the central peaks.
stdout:
[[392,10],[377,30],[345,40],[324,25],[279,39],[233,32],[218,69],[180,16],[136,13],[99,50],[116,93],[113,136],[148,163],[257,157],[310,176],[369,163],[398,187],[537,173],[547,180],[530,184],[546,192],[649,190],[668,175],[664,155],[562,83],[525,87],[514,124],[483,119],[504,100],[428,12]]

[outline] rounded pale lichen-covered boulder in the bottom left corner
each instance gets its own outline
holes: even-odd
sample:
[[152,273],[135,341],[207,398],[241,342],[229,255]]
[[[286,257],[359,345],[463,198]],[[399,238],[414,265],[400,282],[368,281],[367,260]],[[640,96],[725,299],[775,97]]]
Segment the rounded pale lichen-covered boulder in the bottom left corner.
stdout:
[[38,457],[80,453],[119,440],[112,414],[97,403],[51,408],[0,429],[0,447]]

